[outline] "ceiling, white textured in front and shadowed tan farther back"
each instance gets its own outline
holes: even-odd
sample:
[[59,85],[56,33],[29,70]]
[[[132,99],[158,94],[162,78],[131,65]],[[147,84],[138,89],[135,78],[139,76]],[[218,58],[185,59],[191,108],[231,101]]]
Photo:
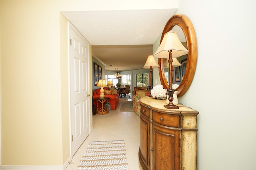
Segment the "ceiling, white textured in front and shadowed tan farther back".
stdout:
[[[106,70],[134,70],[153,54],[153,43],[162,34],[175,9],[62,12],[92,45],[92,55]],[[112,65],[112,66],[110,66]]]

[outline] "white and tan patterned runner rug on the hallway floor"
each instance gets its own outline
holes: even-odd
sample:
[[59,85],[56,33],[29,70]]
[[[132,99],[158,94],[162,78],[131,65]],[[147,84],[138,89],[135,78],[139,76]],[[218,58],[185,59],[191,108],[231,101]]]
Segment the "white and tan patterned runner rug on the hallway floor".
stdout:
[[124,141],[89,142],[77,170],[128,170]]

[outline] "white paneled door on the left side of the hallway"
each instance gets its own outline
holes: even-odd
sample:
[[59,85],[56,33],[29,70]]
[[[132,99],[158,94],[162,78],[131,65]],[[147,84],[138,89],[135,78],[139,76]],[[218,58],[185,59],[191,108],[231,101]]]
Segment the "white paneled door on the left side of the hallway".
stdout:
[[70,125],[72,156],[90,133],[89,43],[69,23]]

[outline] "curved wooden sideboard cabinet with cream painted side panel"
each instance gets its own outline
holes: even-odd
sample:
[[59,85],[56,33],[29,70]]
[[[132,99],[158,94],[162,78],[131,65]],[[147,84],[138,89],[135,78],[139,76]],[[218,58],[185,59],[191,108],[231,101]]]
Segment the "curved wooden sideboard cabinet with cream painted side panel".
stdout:
[[196,170],[198,111],[164,104],[148,96],[140,99],[140,169]]

